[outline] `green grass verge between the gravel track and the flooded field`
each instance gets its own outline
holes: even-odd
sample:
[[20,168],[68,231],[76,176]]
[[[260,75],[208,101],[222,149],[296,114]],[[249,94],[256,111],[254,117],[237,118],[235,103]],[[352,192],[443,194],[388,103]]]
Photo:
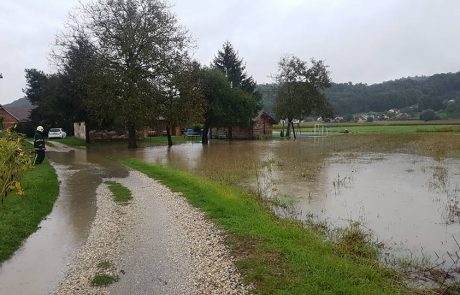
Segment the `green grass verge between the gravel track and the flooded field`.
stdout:
[[[401,294],[400,276],[372,258],[343,254],[312,228],[276,217],[255,195],[138,160],[124,163],[181,192],[227,233],[237,267],[258,294]],[[340,246],[340,245],[339,245]],[[367,247],[367,245],[366,245]],[[353,249],[355,252],[359,252]],[[366,254],[369,254],[366,251]]]

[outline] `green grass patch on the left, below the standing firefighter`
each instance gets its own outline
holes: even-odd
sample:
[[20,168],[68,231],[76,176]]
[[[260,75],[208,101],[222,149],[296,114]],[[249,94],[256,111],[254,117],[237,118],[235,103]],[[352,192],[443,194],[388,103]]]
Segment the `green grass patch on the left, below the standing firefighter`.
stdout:
[[0,205],[0,263],[38,229],[59,193],[56,172],[47,160],[27,172],[21,184],[26,195],[10,193]]

